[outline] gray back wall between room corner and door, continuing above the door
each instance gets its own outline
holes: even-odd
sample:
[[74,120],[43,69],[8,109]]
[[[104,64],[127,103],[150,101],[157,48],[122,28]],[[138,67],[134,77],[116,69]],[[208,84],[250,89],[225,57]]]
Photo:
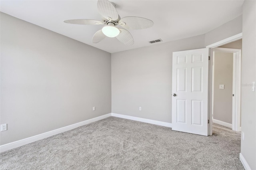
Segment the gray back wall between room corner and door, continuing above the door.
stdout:
[[172,52],[203,47],[204,35],[112,53],[112,113],[171,123]]

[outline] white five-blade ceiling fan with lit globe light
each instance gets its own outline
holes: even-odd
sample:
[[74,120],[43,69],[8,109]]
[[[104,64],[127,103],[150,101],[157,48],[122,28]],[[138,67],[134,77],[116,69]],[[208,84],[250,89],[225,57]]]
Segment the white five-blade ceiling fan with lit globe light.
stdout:
[[[120,42],[126,45],[132,45],[134,43],[132,35],[126,29],[144,29],[152,27],[154,24],[151,20],[136,16],[127,16],[120,19],[115,4],[108,0],[98,0],[97,8],[98,12],[106,18],[102,22],[88,19],[65,20],[64,22],[81,25],[106,25],[102,30],[94,34],[92,42],[98,43],[107,36],[110,38],[116,37]],[[117,28],[116,26],[122,26],[123,28]]]

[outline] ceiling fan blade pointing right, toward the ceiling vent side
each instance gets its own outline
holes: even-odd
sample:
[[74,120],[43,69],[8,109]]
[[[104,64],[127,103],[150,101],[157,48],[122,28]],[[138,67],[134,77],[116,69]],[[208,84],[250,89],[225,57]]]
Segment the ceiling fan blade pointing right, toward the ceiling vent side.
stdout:
[[153,21],[146,18],[136,17],[136,16],[127,16],[122,18],[119,21],[119,25],[126,29],[144,29],[150,28],[154,24]]

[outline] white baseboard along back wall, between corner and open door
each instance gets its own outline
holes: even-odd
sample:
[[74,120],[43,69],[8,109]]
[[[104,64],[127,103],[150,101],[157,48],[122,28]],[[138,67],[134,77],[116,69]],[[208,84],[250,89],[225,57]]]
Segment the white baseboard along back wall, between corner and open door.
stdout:
[[160,125],[160,126],[163,126],[163,127],[172,127],[172,123],[154,121],[154,120],[151,120],[151,119],[144,119],[144,118],[140,118],[140,117],[120,115],[120,114],[117,114],[117,113],[111,113],[111,116],[120,117],[120,118],[124,118],[124,119],[130,119],[130,120],[133,120],[133,121],[139,121],[139,122],[144,122],[144,123],[150,123],[150,124],[154,124],[154,125]]

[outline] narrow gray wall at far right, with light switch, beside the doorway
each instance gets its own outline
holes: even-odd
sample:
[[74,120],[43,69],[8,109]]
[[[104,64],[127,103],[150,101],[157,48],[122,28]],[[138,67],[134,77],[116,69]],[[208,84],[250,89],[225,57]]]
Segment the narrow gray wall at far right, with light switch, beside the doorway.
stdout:
[[241,115],[241,153],[252,170],[256,169],[256,91],[251,86],[256,82],[256,1],[246,0],[243,5],[243,52]]

